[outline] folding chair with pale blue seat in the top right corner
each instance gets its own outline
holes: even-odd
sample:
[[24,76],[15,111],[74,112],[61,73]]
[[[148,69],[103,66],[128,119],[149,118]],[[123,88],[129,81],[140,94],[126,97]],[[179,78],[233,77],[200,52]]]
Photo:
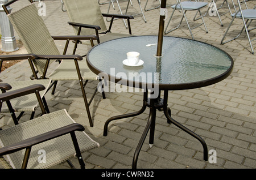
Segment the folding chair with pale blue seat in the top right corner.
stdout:
[[[230,42],[230,41],[235,40],[236,38],[238,38],[242,34],[243,29],[245,29],[245,33],[246,33],[247,39],[248,39],[249,44],[250,44],[251,53],[254,54],[254,50],[253,50],[253,46],[251,45],[251,41],[254,41],[256,38],[251,39],[250,36],[249,36],[249,31],[255,29],[255,27],[251,28],[251,29],[248,29],[248,27],[251,24],[251,22],[256,19],[256,9],[255,9],[256,6],[254,6],[253,9],[248,8],[247,5],[246,5],[245,0],[243,0],[245,8],[241,7],[241,2],[239,0],[237,0],[237,3],[238,3],[238,8],[239,9],[236,13],[233,13],[231,15],[232,20],[229,24],[229,27],[226,29],[226,32],[225,32],[224,36],[222,37],[221,44],[225,44],[226,42]],[[241,31],[238,33],[238,35],[236,37],[231,38],[227,41],[224,41],[224,39],[225,39],[225,37],[226,37],[226,35],[229,31],[229,28],[232,26],[232,23],[234,22],[235,19],[242,19],[243,27],[242,27]]]

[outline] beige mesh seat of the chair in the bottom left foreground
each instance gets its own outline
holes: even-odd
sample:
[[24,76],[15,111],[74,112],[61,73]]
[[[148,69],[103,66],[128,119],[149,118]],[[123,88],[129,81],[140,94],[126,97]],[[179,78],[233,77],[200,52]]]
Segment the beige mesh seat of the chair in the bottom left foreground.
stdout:
[[[19,125],[0,131],[2,146],[18,143],[24,139],[55,130],[63,126],[75,123],[65,109],[45,114],[42,117],[32,119]],[[84,131],[76,131],[77,142],[81,153],[99,147],[99,144],[92,140]],[[46,163],[39,163],[39,150],[46,152]],[[7,155],[8,161],[13,168],[21,168],[25,149]],[[67,161],[75,157],[76,151],[70,134],[60,136],[47,142],[34,145],[31,149],[30,159],[27,168],[50,168],[51,166]]]

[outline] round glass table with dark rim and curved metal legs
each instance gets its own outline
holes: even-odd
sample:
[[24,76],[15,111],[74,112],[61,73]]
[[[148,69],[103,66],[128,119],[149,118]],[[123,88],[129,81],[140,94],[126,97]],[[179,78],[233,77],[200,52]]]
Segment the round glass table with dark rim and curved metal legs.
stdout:
[[[163,110],[168,123],[173,123],[201,142],[204,160],[208,160],[204,140],[171,118],[171,110],[167,107],[168,91],[200,88],[220,82],[232,72],[233,59],[215,46],[170,36],[163,37],[162,57],[156,57],[157,42],[158,36],[124,37],[103,42],[89,50],[86,61],[95,74],[105,80],[146,90],[142,109],[109,118],[105,123],[104,136],[107,135],[110,121],[139,115],[149,107],[148,123],[134,154],[133,168],[137,168],[139,151],[149,130],[150,145],[154,143],[156,110]],[[127,52],[140,53],[137,65],[127,66]],[[147,90],[151,92],[150,98]],[[161,90],[164,91],[163,99],[160,98]]]

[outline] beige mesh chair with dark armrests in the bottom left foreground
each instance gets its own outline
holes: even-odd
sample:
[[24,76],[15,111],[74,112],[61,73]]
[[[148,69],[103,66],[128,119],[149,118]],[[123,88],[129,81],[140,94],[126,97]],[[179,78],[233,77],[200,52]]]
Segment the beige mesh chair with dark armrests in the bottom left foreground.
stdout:
[[[38,97],[44,110],[39,91],[45,87],[34,84],[0,95],[2,103],[24,95]],[[75,123],[65,109],[44,114],[0,131],[0,163],[4,168],[50,168],[77,156],[81,168],[85,168],[81,153],[99,147],[85,132],[84,126]]]

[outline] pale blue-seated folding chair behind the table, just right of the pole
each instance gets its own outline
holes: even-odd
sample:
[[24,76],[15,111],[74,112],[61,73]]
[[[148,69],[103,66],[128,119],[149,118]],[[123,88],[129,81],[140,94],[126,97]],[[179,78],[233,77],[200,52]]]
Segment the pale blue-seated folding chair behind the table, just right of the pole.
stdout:
[[[171,7],[173,8],[173,11],[172,11],[171,17],[170,17],[170,19],[169,19],[169,21],[168,21],[168,23],[167,23],[167,25],[166,25],[166,29],[165,29],[164,33],[165,33],[165,34],[168,34],[168,33],[172,32],[172,31],[175,31],[177,28],[179,28],[180,25],[181,25],[181,22],[182,22],[183,18],[185,19],[185,21],[186,21],[186,23],[187,23],[187,25],[188,25],[188,29],[189,29],[189,32],[191,33],[191,37],[192,37],[193,40],[194,40],[195,38],[194,38],[194,36],[193,36],[191,30],[192,30],[192,29],[195,29],[195,28],[197,28],[197,27],[199,27],[200,25],[203,25],[203,24],[204,24],[205,31],[208,33],[207,27],[206,27],[206,25],[205,25],[203,16],[202,16],[201,11],[200,11],[201,8],[207,6],[208,3],[207,3],[207,2],[197,2],[197,1],[195,1],[195,2],[192,2],[192,1],[183,1],[183,2],[181,2],[180,0],[176,0],[176,1],[177,1],[176,5],[171,6]],[[181,11],[182,14],[183,14],[183,16],[182,16],[182,18],[181,18],[181,20],[180,20],[180,24],[177,25],[176,28],[173,28],[173,29],[170,29],[169,31],[167,31],[168,25],[170,24],[171,19],[172,19],[172,16],[174,15],[174,12],[175,12],[176,10]],[[200,14],[200,17],[201,17],[203,23],[201,23],[201,24],[199,24],[199,25],[196,25],[196,26],[193,27],[193,28],[190,28],[189,23],[188,23],[188,20],[187,20],[187,17],[186,17],[186,15],[185,15],[187,11],[199,11],[199,14]]]

